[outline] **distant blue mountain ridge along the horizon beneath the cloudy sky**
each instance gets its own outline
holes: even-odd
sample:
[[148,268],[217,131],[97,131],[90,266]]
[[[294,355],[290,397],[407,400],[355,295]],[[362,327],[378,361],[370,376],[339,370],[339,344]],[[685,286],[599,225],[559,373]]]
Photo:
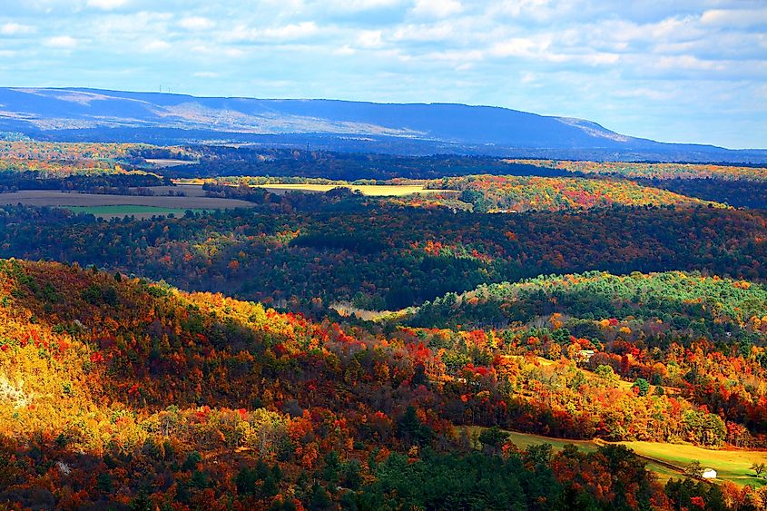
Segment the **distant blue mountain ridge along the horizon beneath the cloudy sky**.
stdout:
[[635,138],[583,119],[454,103],[195,97],[0,88],[0,131],[44,140],[253,142],[333,150],[767,162],[767,150]]

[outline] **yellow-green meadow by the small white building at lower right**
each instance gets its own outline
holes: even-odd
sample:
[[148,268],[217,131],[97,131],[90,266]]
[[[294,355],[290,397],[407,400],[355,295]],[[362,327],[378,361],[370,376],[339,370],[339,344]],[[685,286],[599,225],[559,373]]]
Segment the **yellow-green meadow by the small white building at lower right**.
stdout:
[[[469,434],[479,433],[482,427],[467,427]],[[561,451],[567,444],[575,444],[585,452],[594,452],[602,441],[567,440],[563,438],[541,437],[527,433],[507,431],[509,439],[516,447],[524,450],[529,446],[551,444],[555,452]],[[767,484],[764,479],[754,476],[752,463],[767,463],[767,451],[752,450],[713,450],[691,445],[664,444],[659,442],[619,442],[644,457],[647,469],[657,475],[658,480],[665,484],[669,479],[683,478],[684,467],[693,460],[701,462],[705,468],[713,468],[717,473],[717,481],[732,481],[736,485],[752,485],[761,487]],[[657,460],[661,463],[654,463]],[[677,467],[668,467],[668,465]]]

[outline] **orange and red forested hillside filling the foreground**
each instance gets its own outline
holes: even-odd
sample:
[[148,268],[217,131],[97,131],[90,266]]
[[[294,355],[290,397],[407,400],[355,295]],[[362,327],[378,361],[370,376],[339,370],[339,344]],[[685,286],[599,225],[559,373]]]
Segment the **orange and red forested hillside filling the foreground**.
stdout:
[[[577,339],[556,315],[537,342],[375,334],[55,263],[2,261],[0,283],[0,498],[21,506],[566,509],[575,498],[615,509],[757,495],[730,483],[664,492],[624,447],[519,451],[500,430],[461,437],[452,425],[757,445],[764,419],[703,404],[683,382],[688,371],[762,378],[761,348],[637,343],[622,359],[625,325],[609,319],[599,339]],[[587,342],[605,345],[593,372],[569,349]],[[536,359],[539,346],[556,363]],[[663,387],[645,372],[661,360],[677,368]]]

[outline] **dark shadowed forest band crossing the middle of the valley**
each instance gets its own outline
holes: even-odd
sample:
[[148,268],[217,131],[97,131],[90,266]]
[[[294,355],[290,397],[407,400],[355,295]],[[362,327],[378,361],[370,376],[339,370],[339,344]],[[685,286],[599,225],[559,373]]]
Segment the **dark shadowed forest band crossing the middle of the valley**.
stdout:
[[[43,223],[44,230],[35,226]],[[272,197],[250,211],[95,221],[0,210],[0,255],[77,261],[250,300],[357,299],[396,310],[487,282],[606,270],[702,270],[763,280],[755,211],[643,207],[476,215],[352,193]]]

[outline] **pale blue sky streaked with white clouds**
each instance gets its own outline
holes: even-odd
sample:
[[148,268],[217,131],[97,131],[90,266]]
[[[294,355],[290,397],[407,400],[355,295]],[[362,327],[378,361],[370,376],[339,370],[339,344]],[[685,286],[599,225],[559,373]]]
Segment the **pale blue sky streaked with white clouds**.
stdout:
[[486,104],[767,148],[767,0],[0,0],[0,85]]

